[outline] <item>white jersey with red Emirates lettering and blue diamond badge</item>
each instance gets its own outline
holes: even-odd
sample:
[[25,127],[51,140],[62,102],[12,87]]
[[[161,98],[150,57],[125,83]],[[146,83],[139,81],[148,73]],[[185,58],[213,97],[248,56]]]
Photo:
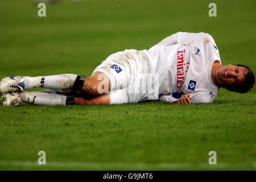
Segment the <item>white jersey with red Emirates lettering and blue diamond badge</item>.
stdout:
[[160,101],[174,102],[181,94],[189,93],[192,103],[209,103],[217,96],[219,88],[211,72],[214,61],[221,60],[209,34],[177,32],[142,52],[147,59],[162,64],[154,68],[160,75]]

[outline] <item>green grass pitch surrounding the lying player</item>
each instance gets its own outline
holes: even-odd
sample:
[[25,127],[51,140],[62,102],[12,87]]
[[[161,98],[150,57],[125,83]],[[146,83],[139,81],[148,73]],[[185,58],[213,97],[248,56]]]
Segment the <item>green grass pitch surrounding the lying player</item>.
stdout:
[[[217,17],[208,16],[210,2]],[[0,6],[0,77],[90,76],[111,53],[208,32],[222,64],[256,71],[255,1],[30,1]],[[0,107],[0,169],[256,169],[256,89],[213,104]],[[37,164],[46,151],[47,165]],[[217,165],[208,164],[209,151]]]

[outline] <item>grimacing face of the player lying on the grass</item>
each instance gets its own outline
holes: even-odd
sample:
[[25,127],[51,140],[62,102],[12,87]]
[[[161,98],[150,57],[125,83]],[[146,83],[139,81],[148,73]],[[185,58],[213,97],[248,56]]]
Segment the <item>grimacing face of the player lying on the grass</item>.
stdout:
[[217,82],[224,87],[229,85],[241,85],[245,80],[247,69],[245,67],[238,67],[237,65],[221,65],[217,69]]

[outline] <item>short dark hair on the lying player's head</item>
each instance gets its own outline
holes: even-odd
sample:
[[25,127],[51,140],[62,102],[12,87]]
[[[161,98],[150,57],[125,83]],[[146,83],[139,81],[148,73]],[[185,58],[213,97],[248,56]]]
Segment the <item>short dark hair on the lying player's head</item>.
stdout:
[[249,67],[246,67],[246,65],[242,65],[242,64],[235,64],[235,65],[238,67],[244,67],[247,69],[245,80],[242,82],[241,85],[229,85],[229,86],[226,86],[226,89],[233,92],[246,93],[250,90],[250,88],[253,87],[255,83],[255,77],[253,75],[253,71],[251,71]]

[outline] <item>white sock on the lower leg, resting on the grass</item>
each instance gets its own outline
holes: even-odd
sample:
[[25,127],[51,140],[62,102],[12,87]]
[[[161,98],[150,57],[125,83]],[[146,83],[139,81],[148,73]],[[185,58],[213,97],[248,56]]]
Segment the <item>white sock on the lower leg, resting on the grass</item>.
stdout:
[[51,90],[40,92],[20,92],[22,102],[37,105],[66,105],[67,95],[55,93]]

